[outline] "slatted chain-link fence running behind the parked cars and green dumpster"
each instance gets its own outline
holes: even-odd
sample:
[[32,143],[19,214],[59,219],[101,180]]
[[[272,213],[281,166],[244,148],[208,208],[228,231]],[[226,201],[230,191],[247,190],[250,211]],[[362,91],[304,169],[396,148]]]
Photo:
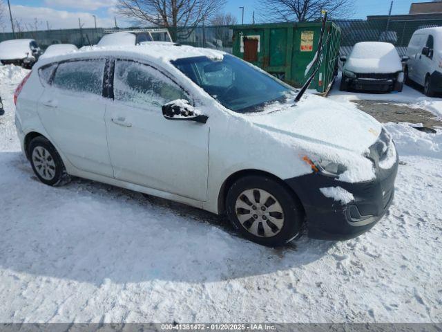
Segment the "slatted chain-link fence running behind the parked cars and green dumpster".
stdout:
[[[414,31],[442,26],[442,19],[369,19],[335,21],[342,31],[341,54],[347,55],[357,42],[390,42],[399,53],[405,53]],[[233,48],[232,26],[198,26],[197,28],[169,29],[173,40],[180,44],[215,48],[228,53]],[[97,44],[104,35],[102,28],[26,31],[16,33],[16,38],[35,39],[42,48],[50,44],[75,44],[79,47]],[[0,42],[13,39],[12,33],[1,33]]]

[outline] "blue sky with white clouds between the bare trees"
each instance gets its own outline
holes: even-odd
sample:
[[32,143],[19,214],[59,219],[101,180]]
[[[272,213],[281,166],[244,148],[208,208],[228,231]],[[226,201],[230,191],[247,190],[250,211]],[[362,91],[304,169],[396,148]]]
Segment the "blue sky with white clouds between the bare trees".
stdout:
[[[2,0],[0,0],[2,1]],[[7,3],[6,0],[3,0]],[[128,26],[131,22],[115,13],[115,0],[10,0],[12,16],[17,18],[22,26],[35,25],[39,29],[46,29],[46,22],[50,28],[78,28],[78,18],[84,28],[93,28],[94,17],[97,17],[97,26],[115,26],[114,17],[117,17],[119,26]],[[425,0],[394,0],[393,14],[406,14],[412,2]],[[390,0],[354,0],[355,13],[352,18],[365,19],[367,15],[387,15]],[[244,6],[244,23],[250,23],[253,10],[256,10],[256,19],[260,20],[258,0],[228,0],[226,12],[231,12],[241,21],[240,6]],[[3,29],[10,31],[9,17],[3,17]]]

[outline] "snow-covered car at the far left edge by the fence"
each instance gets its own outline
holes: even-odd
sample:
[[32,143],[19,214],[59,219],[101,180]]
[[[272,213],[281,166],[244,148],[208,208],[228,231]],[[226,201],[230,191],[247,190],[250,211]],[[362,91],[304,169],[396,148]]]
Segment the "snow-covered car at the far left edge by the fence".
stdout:
[[12,39],[0,43],[0,62],[32,68],[41,55],[34,39]]

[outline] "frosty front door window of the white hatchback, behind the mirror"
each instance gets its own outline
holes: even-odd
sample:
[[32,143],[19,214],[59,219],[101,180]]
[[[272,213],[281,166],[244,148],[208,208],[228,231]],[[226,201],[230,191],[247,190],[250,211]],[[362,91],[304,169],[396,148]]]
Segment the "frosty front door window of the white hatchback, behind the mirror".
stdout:
[[114,99],[137,107],[161,109],[177,99],[189,100],[169,77],[139,62],[117,60],[114,74]]

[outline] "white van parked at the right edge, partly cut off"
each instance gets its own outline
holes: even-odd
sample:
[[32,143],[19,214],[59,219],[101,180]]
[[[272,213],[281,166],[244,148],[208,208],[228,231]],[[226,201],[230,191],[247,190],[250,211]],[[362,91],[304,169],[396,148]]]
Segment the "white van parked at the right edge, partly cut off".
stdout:
[[423,86],[429,97],[442,93],[442,27],[416,30],[407,55],[405,77]]

